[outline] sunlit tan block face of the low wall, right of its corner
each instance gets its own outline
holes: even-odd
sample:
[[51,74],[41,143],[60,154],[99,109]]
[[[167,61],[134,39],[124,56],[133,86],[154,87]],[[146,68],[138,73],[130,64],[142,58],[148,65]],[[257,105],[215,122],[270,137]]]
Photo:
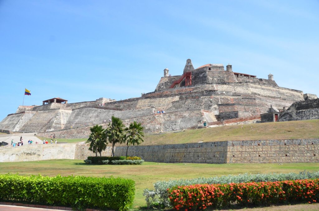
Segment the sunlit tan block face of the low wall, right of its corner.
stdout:
[[319,162],[319,139],[229,141],[227,163]]

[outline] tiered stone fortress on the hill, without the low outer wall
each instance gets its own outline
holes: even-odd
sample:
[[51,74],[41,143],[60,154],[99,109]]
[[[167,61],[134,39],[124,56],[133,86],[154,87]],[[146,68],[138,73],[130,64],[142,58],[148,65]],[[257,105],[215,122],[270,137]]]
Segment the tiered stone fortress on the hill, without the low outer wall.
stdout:
[[[273,80],[226,70],[222,64],[206,64],[194,69],[190,59],[183,74],[170,76],[164,69],[155,91],[138,98],[115,101],[67,103],[53,98],[40,106],[19,106],[0,122],[0,129],[19,132],[48,132],[60,138],[84,138],[89,127],[103,124],[112,115],[125,124],[141,122],[145,133],[161,133],[219,124],[260,122],[269,107],[288,108],[294,102],[316,98],[302,91],[282,88]],[[103,106],[97,106],[97,105]],[[165,113],[157,113],[164,110]],[[46,135],[46,134],[44,134]]]

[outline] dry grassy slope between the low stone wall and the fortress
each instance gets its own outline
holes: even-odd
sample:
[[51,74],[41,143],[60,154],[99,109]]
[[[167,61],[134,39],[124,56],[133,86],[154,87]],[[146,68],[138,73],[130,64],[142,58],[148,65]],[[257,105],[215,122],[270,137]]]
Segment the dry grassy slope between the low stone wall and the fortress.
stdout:
[[319,120],[232,125],[146,135],[143,145],[231,140],[319,138]]

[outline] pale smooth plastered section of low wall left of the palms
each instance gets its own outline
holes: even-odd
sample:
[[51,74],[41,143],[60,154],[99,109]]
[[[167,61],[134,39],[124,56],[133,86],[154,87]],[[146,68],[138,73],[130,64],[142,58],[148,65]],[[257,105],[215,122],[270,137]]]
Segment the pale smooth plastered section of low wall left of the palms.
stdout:
[[0,148],[0,162],[75,159],[76,144],[32,144]]

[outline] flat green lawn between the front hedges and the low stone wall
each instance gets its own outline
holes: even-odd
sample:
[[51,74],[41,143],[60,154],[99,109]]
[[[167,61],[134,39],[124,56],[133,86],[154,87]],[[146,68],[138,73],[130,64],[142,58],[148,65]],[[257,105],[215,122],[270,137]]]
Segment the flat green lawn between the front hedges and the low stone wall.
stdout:
[[32,162],[0,163],[0,174],[8,172],[19,174],[57,174],[84,175],[94,177],[122,177],[133,179],[136,183],[134,207],[145,206],[143,190],[153,188],[158,180],[211,177],[242,173],[288,173],[300,171],[319,171],[319,163],[291,164],[166,164],[145,162],[142,165],[87,165],[83,160],[46,160]]

